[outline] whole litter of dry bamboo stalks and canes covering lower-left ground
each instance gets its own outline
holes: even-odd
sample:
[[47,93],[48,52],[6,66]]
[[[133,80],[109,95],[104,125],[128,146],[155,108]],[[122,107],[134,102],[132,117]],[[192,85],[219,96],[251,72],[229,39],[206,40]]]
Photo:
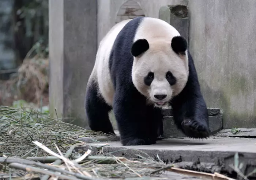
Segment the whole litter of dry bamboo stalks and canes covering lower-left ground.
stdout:
[[[0,164],[7,164],[7,166],[2,167],[0,165],[0,178],[19,179],[26,177],[33,179],[47,174],[49,177],[51,176],[49,173],[57,173],[56,169],[52,169],[55,167],[62,169],[63,173],[61,174],[64,176],[73,172],[80,174],[82,179],[124,179],[150,176],[156,168],[167,167],[161,160],[154,160],[149,156],[147,157],[146,154],[145,157],[140,156],[140,159],[126,160],[111,155],[102,156],[101,153],[98,153],[101,156],[87,156],[79,162],[74,162],[85,152],[90,153],[91,149],[90,146],[77,141],[78,137],[104,135],[50,118],[48,115],[41,114],[31,108],[15,109],[0,106]],[[49,148],[52,154],[35,142]],[[81,145],[83,145],[82,148]],[[99,152],[105,145],[107,144],[97,145]],[[71,163],[63,163],[63,161],[59,164],[54,163],[59,159],[53,156],[54,153],[58,156],[70,155],[71,160],[67,159],[67,161],[71,161]],[[7,160],[6,157],[8,157]],[[34,160],[38,160],[38,158],[39,161],[42,161],[41,164],[39,162],[35,164]],[[108,159],[106,160],[106,158]],[[23,171],[17,171],[17,169]],[[154,176],[156,177],[158,174],[159,172],[155,172]],[[69,175],[69,177],[81,179],[75,175]]]

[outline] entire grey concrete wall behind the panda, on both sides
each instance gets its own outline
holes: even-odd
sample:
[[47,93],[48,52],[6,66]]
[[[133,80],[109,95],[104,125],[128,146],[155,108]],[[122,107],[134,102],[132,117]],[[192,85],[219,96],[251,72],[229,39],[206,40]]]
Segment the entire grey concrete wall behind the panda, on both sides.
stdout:
[[[145,16],[186,0],[133,0]],[[50,110],[85,126],[84,95],[99,41],[127,0],[50,3]],[[208,107],[224,110],[223,127],[256,127],[256,1],[190,0],[189,48]],[[98,9],[97,9],[98,8]],[[63,88],[63,89],[62,89]]]

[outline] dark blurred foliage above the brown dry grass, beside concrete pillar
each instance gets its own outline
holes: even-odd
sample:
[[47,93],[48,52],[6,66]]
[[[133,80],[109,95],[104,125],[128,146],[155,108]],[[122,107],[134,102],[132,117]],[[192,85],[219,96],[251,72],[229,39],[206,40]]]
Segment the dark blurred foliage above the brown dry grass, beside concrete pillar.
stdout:
[[23,62],[37,43],[34,53],[48,55],[48,0],[14,0],[15,49]]

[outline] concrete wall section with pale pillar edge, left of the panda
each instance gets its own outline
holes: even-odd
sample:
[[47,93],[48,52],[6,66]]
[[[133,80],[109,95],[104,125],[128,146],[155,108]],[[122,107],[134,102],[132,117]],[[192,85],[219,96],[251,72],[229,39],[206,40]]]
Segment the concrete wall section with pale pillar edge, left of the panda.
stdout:
[[[49,1],[49,110],[86,127],[84,98],[97,51],[97,1]],[[56,117],[56,116],[55,116]]]

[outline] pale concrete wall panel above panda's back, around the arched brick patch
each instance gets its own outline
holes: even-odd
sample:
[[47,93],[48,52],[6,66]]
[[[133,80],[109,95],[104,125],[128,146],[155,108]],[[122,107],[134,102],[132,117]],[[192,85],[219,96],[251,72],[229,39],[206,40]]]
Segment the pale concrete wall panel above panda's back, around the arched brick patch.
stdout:
[[[187,0],[134,0],[145,16],[157,17],[159,9],[164,5],[185,3]],[[112,26],[114,26],[120,7],[127,0],[98,0],[98,44]]]

